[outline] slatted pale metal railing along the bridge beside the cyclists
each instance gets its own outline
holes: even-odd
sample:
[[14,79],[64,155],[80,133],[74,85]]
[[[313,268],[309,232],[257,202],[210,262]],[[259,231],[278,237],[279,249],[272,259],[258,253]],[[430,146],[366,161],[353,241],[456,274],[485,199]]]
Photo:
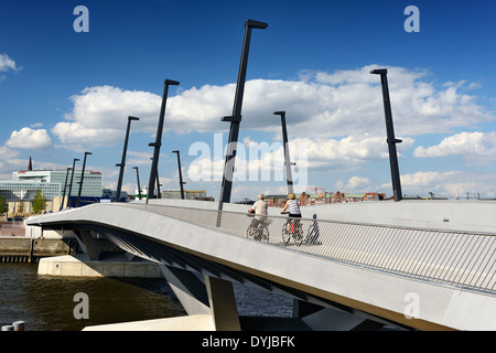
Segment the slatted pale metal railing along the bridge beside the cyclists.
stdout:
[[263,217],[267,229],[249,233],[254,216],[247,214],[132,206],[237,236],[261,235],[260,240],[270,245],[341,263],[496,293],[496,234],[301,218],[303,237],[299,239],[292,237],[293,229],[284,231],[285,216]]

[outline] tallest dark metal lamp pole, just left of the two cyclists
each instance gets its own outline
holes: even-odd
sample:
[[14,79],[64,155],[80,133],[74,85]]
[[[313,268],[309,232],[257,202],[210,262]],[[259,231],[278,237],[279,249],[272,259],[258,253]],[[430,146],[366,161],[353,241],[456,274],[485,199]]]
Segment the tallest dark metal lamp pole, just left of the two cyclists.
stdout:
[[233,115],[230,117],[224,117],[220,119],[222,121],[230,121],[230,129],[229,129],[229,139],[227,141],[226,160],[224,163],[224,174],[223,174],[223,183],[220,186],[218,211],[223,210],[223,203],[230,202],[230,192],[233,189],[233,175],[236,160],[236,148],[239,135],[239,122],[241,121],[241,106],[242,106],[242,95],[245,92],[246,68],[248,65],[248,52],[250,49],[251,29],[263,30],[267,26],[268,24],[265,22],[254,20],[245,21],[245,36],[242,39],[241,58],[239,63],[238,82],[236,86]]

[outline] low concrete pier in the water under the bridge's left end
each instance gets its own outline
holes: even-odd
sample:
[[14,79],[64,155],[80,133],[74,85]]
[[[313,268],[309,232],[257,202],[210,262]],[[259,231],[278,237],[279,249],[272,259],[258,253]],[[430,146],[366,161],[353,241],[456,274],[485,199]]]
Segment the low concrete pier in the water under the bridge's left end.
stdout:
[[45,257],[40,259],[39,275],[68,277],[139,277],[163,278],[157,264],[128,260],[122,254],[108,255],[101,260],[89,260],[87,254]]

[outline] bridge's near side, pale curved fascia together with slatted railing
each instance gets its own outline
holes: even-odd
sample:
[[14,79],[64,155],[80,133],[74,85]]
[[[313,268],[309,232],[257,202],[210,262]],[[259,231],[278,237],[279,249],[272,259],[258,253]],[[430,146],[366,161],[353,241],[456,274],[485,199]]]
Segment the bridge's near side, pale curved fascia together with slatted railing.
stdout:
[[[301,245],[285,245],[283,216],[269,216],[269,239],[256,242],[246,233],[251,217],[229,211],[220,218],[218,215],[208,207],[100,204],[33,217],[29,224],[126,229],[197,256],[190,263],[171,253],[169,264],[198,270],[198,258],[205,258],[231,268],[234,278],[240,270],[293,288],[296,296],[303,292],[411,327],[496,329],[496,236],[492,233],[320,217],[302,220]],[[162,255],[153,255],[157,249],[137,243],[129,234],[106,232],[136,255],[161,260]],[[216,275],[218,268],[209,270]],[[411,295],[422,303],[413,321],[405,315]]]

